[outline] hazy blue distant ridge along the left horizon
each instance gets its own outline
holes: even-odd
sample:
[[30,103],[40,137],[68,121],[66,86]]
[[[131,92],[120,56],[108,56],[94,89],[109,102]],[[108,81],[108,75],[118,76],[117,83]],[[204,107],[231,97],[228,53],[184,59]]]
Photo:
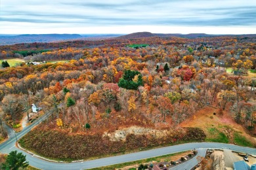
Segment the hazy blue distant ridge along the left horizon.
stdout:
[[82,38],[79,34],[24,34],[24,35],[0,35],[0,45],[52,42]]

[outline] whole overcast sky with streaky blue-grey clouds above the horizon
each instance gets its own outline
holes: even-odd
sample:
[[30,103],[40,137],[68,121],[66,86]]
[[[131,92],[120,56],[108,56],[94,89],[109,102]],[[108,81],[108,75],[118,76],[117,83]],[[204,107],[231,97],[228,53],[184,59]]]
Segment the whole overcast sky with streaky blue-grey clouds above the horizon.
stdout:
[[0,34],[256,33],[256,0],[0,0]]

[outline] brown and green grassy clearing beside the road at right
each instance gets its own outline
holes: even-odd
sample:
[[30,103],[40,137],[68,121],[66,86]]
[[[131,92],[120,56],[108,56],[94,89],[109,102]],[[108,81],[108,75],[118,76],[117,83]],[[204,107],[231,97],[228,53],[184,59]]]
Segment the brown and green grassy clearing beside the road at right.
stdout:
[[[216,113],[214,115],[213,113]],[[237,124],[229,112],[223,116],[218,114],[218,109],[205,107],[196,112],[193,118],[181,123],[182,127],[200,127],[206,134],[205,141],[218,143],[235,143],[240,146],[253,147],[256,138],[248,135],[244,127]]]

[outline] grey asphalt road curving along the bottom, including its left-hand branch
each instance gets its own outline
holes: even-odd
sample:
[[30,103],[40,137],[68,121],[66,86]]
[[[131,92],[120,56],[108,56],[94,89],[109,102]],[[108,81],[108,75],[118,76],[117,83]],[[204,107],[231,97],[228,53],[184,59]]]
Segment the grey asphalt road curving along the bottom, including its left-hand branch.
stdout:
[[[16,136],[18,139],[20,139],[22,136],[24,136],[26,133],[28,133],[33,127],[35,127],[37,124],[41,123],[43,120],[45,120],[49,115],[50,112],[47,112],[35,122],[25,127],[20,133],[16,133]],[[12,150],[18,150],[18,152],[23,152],[23,154],[26,155],[26,159],[30,162],[30,165],[33,167],[37,167],[39,169],[47,169],[47,170],[58,170],[58,169],[89,169],[93,167],[101,167],[106,165],[112,165],[116,163],[123,163],[127,161],[134,161],[134,160],[141,160],[144,158],[151,158],[155,156],[161,156],[165,154],[171,154],[175,152],[182,152],[185,150],[192,150],[196,148],[197,150],[204,150],[205,148],[221,148],[221,149],[230,149],[235,150],[238,152],[245,152],[247,154],[253,154],[256,155],[256,148],[248,148],[248,147],[242,147],[242,146],[236,146],[234,144],[224,144],[224,143],[186,143],[186,144],[178,144],[175,146],[167,146],[163,148],[156,148],[152,150],[146,150],[141,152],[135,152],[131,154],[124,154],[120,156],[112,156],[108,158],[100,158],[97,160],[89,160],[89,161],[83,161],[83,162],[75,162],[75,163],[57,163],[57,162],[51,162],[46,160],[41,160],[40,158],[34,157],[31,154],[28,154],[27,152],[24,152],[23,150],[20,150],[19,148],[16,148],[15,146],[16,139],[15,137],[10,138],[9,140],[5,141],[5,143],[0,144],[0,152],[2,153],[9,153]]]

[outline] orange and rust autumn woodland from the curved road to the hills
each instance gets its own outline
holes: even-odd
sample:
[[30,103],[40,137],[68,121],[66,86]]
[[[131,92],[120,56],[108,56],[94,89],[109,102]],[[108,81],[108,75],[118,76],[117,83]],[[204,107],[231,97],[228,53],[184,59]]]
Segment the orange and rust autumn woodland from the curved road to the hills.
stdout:
[[[32,124],[51,112],[19,143],[61,160],[190,141],[253,147],[255,41],[155,36],[0,46],[1,120],[18,132],[25,117]],[[14,58],[21,62],[10,67]],[[34,116],[32,103],[41,108]]]

